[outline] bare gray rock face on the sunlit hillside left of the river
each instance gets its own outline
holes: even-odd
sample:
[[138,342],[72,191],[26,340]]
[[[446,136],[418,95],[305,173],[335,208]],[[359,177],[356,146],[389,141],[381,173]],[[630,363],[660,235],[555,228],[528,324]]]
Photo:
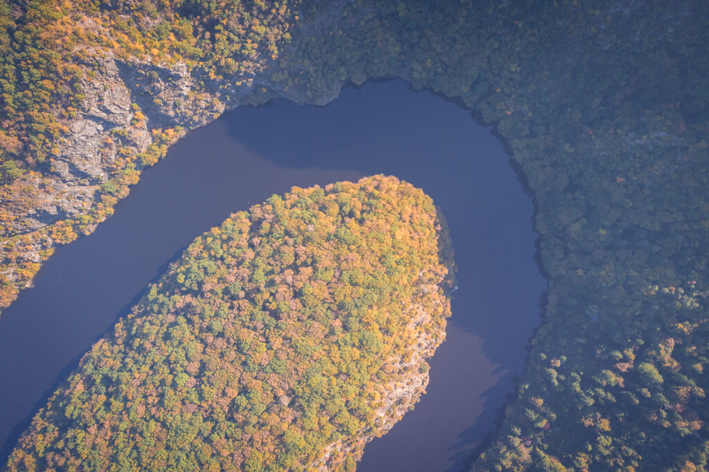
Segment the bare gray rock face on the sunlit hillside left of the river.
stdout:
[[[89,214],[101,199],[101,186],[120,171],[118,159],[143,153],[155,139],[152,129],[192,129],[224,110],[211,93],[194,93],[195,80],[185,64],[169,69],[150,62],[126,64],[110,51],[96,57],[100,67],[92,79],[82,82],[83,109],[63,123],[66,133],[57,143],[58,152],[48,159],[42,174],[23,176],[23,192],[9,195],[0,204],[0,210],[12,215],[0,226],[0,236],[6,240],[0,243],[0,260],[13,260],[3,273],[10,282],[18,280],[18,267],[41,262],[40,251],[55,246],[40,230]],[[84,231],[95,226],[95,222],[87,224]],[[7,239],[16,236],[23,236],[23,244],[12,247],[10,258]]]

